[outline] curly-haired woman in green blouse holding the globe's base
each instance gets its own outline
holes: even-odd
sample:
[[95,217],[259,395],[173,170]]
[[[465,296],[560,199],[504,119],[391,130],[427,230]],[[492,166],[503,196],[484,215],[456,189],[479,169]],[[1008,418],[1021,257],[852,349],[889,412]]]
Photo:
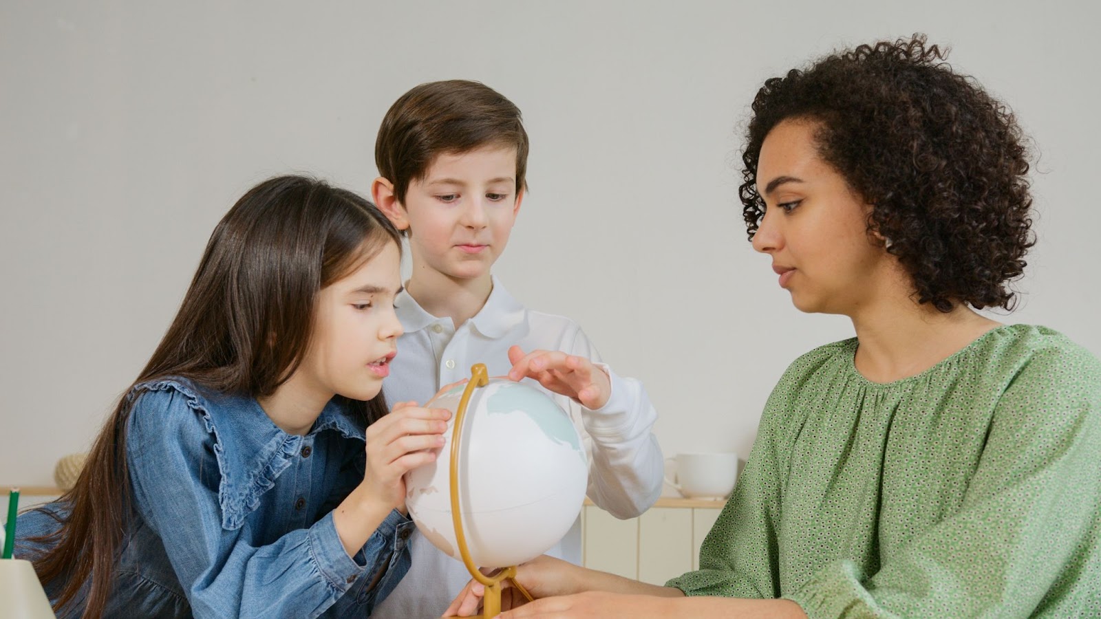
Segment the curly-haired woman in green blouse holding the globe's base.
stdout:
[[502,617],[1101,615],[1101,362],[974,312],[1013,305],[1028,164],[944,58],[881,42],[757,93],[753,248],[855,337],[781,378],[700,569],[658,587],[542,557],[519,579],[546,599]]

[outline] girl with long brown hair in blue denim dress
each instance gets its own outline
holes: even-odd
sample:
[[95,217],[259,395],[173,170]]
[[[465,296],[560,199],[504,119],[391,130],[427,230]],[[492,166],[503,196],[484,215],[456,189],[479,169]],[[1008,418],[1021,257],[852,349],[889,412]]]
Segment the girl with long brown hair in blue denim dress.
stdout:
[[361,617],[385,597],[408,568],[402,475],[448,415],[386,414],[399,261],[350,192],[282,176],[238,200],[76,487],[20,517],[61,617]]

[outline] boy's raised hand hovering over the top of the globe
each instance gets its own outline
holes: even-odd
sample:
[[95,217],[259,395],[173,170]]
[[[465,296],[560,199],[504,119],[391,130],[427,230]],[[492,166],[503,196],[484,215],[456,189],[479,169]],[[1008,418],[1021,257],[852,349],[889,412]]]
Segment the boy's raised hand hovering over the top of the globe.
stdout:
[[612,394],[608,373],[585,357],[567,355],[560,350],[533,350],[524,354],[519,346],[509,348],[512,369],[509,378],[533,378],[539,384],[577,400],[587,409],[599,409]]

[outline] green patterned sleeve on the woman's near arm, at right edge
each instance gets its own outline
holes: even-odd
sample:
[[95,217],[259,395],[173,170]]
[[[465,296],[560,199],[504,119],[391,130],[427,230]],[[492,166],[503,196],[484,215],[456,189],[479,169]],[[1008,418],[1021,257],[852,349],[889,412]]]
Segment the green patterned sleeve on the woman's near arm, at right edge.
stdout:
[[[958,511],[882,557],[875,574],[838,561],[785,597],[811,618],[1099,611],[1095,588],[1073,586],[1101,577],[1098,463],[1097,360],[1037,351],[995,404]],[[1067,599],[1083,595],[1094,599]]]

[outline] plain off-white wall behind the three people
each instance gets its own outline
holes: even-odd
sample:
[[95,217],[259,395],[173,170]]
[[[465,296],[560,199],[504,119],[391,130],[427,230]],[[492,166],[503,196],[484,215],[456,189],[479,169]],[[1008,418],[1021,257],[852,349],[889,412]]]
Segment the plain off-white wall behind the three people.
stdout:
[[1039,246],[1007,319],[1101,355],[1097,6],[892,4],[4,2],[0,484],[51,484],[87,447],[246,188],[367,192],[382,115],[434,79],[524,111],[533,191],[497,272],[645,381],[669,455],[748,453],[786,365],[851,335],[791,306],[735,194],[760,83],[839,45],[927,32],[1012,105]]

